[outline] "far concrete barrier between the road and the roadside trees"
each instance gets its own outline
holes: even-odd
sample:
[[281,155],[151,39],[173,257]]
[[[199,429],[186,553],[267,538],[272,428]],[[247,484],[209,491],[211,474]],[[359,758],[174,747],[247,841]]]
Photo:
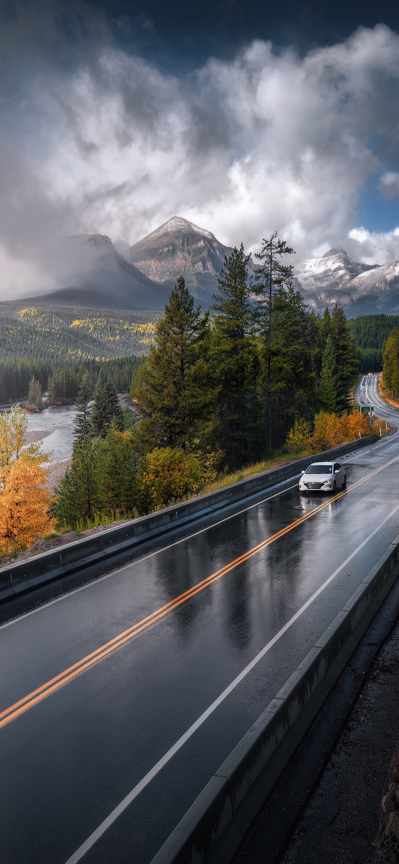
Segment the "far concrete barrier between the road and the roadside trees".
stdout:
[[336,459],[351,450],[365,447],[376,441],[377,435],[368,435],[349,444],[342,444],[341,447],[326,450],[325,453],[306,456],[304,459],[295,460],[273,471],[258,474],[257,477],[225,486],[218,492],[199,495],[198,498],[182,504],[150,513],[149,516],[131,519],[123,525],[117,525],[116,528],[98,531],[98,534],[91,537],[67,543],[56,550],[43,552],[41,555],[11,564],[7,568],[0,569],[0,601],[9,600],[63,576],[78,573],[85,567],[104,562],[111,556],[133,549],[138,543],[146,543],[171,530],[189,525],[194,520],[211,516],[212,513],[234,505],[239,500],[250,498],[251,495],[262,492],[269,486],[276,486],[276,483],[288,477],[295,477],[311,462]]

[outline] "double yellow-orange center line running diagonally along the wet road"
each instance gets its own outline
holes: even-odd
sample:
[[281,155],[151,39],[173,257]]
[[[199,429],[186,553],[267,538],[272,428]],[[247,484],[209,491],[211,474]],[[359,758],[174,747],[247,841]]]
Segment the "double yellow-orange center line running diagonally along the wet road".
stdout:
[[273,534],[271,537],[267,537],[266,540],[263,540],[262,543],[258,543],[257,546],[254,546],[252,549],[244,552],[243,555],[235,558],[234,561],[231,561],[228,564],[225,564],[225,567],[221,567],[216,570],[215,573],[212,573],[210,576],[206,576],[206,579],[203,579],[200,582],[197,582],[193,585],[192,588],[188,588],[187,591],[184,591],[183,594],[179,594],[178,597],[174,597],[174,600],[170,600],[165,606],[161,606],[159,609],[156,609],[155,612],[147,615],[146,618],[142,618],[141,621],[138,621],[137,624],[129,627],[128,630],[124,630],[122,633],[119,633],[118,636],[115,636],[113,639],[110,639],[109,642],[105,642],[104,645],[101,645],[96,651],[92,651],[91,654],[87,654],[86,657],[82,658],[78,661],[78,663],[73,664],[73,666],[69,666],[68,669],[60,672],[60,675],[56,675],[54,678],[51,678],[50,681],[47,681],[45,684],[42,684],[41,687],[33,690],[32,693],[28,693],[28,696],[24,696],[23,699],[20,699],[19,702],[15,702],[14,705],[10,705],[9,708],[6,708],[4,711],[0,712],[0,728],[5,726],[6,723],[9,723],[12,720],[16,720],[16,717],[23,714],[25,711],[28,711],[28,708],[33,708],[34,705],[37,705],[38,702],[41,702],[42,699],[46,699],[48,696],[51,696],[55,690],[63,687],[64,684],[73,681],[73,678],[82,675],[88,669],[91,669],[94,664],[98,663],[100,660],[104,660],[109,654],[113,651],[117,651],[118,648],[121,648],[126,642],[129,642],[130,639],[134,638],[137,633],[142,632],[142,630],[146,630],[147,627],[155,624],[156,621],[159,621],[165,615],[172,612],[177,607],[181,606],[182,603],[186,603],[187,600],[190,600],[195,594],[199,594],[200,591],[203,591],[204,588],[208,588],[209,585],[212,585],[213,582],[218,581],[224,576],[226,573],[230,573],[231,570],[239,567],[240,564],[243,564],[245,561],[249,561],[250,558],[257,555],[263,549],[266,549],[271,543],[276,543],[276,540],[279,540],[280,537],[284,537],[285,534],[288,534],[289,531],[294,530],[301,525],[303,522],[306,522],[307,519],[310,519],[316,515],[316,513],[320,513],[320,511],[324,510],[326,507],[329,507],[333,501],[337,501],[339,498],[342,498],[343,495],[347,494],[347,492],[352,492],[352,489],[356,489],[357,486],[361,486],[362,483],[365,483],[366,480],[370,480],[371,477],[374,477],[375,474],[383,471],[384,468],[393,465],[394,462],[399,460],[399,456],[396,456],[395,459],[391,459],[389,462],[386,462],[381,467],[377,468],[375,471],[367,474],[362,480],[358,480],[357,483],[353,483],[349,490],[344,490],[343,492],[338,492],[338,494],[333,495],[332,498],[329,498],[324,504],[320,504],[318,507],[315,507],[314,510],[309,513],[305,513],[298,519],[295,519],[295,522],[291,522],[282,530],[276,531],[276,534]]

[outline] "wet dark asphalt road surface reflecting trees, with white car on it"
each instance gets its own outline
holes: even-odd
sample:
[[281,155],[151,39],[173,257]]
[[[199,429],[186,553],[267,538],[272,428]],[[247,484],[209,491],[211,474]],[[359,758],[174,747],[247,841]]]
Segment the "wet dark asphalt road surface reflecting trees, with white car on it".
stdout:
[[[359,392],[392,421],[397,412],[380,409],[374,383],[367,379],[366,394],[360,382]],[[399,432],[344,464],[347,492],[336,500],[300,496],[297,480],[288,480],[264,492],[263,503],[248,509],[247,502],[225,521],[219,513],[218,524],[174,544],[169,538],[163,550],[0,627],[3,864],[151,861],[399,531]],[[269,545],[226,567],[267,538]],[[101,662],[87,661],[79,677],[24,713],[16,708],[2,727],[3,710],[221,568],[216,581],[128,633]],[[77,852],[273,638],[90,848]]]

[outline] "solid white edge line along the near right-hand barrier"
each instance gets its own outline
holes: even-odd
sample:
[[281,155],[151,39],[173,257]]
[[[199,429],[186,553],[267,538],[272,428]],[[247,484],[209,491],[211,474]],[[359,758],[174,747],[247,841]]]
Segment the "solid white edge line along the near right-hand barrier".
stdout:
[[157,762],[156,765],[151,768],[151,770],[145,775],[145,777],[143,777],[142,780],[137,783],[134,789],[129,792],[129,795],[126,795],[126,797],[123,798],[123,801],[121,801],[121,803],[117,805],[115,810],[112,810],[110,815],[107,816],[106,819],[104,819],[104,822],[98,825],[98,828],[92,832],[90,837],[88,837],[81,846],[79,846],[79,849],[76,850],[76,852],[71,856],[71,858],[68,858],[66,864],[78,864],[78,861],[80,861],[81,858],[83,858],[83,856],[85,855],[85,853],[88,852],[90,848],[92,848],[94,843],[98,841],[99,837],[101,837],[104,832],[108,828],[110,828],[111,824],[115,822],[117,817],[120,816],[121,813],[123,813],[123,810],[126,810],[126,808],[129,807],[129,805],[132,803],[132,801],[134,801],[137,795],[139,795],[140,792],[145,788],[145,786],[147,786],[150,781],[155,778],[156,774],[161,771],[161,768],[167,765],[168,761],[172,759],[172,757],[175,755],[175,753],[178,752],[178,750],[180,750],[180,747],[182,747],[183,744],[186,744],[186,741],[191,738],[191,736],[194,734],[194,732],[197,731],[197,729],[199,729],[200,726],[202,726],[202,723],[204,723],[207,718],[212,715],[213,711],[215,711],[216,708],[218,708],[218,706],[225,701],[227,696],[230,696],[231,691],[237,687],[237,684],[239,684],[243,680],[243,678],[249,674],[249,672],[254,668],[254,666],[256,666],[257,663],[259,663],[259,661],[263,659],[265,654],[270,651],[270,648],[272,648],[273,645],[276,645],[278,639],[280,639],[283,634],[288,631],[289,627],[291,627],[295,623],[295,621],[301,617],[301,614],[305,612],[307,607],[309,607],[314,602],[314,600],[316,600],[316,597],[319,597],[319,595],[322,593],[322,591],[325,590],[327,585],[329,585],[330,582],[335,579],[335,576],[337,576],[340,571],[344,569],[344,567],[346,567],[346,564],[352,561],[352,558],[357,555],[361,549],[363,549],[365,544],[368,543],[369,540],[371,540],[371,537],[374,537],[374,535],[377,534],[377,531],[382,529],[383,525],[388,522],[388,520],[394,515],[394,513],[396,513],[397,510],[399,510],[399,504],[396,505],[396,507],[394,507],[392,511],[390,511],[389,515],[383,519],[383,522],[377,525],[377,528],[371,531],[371,534],[369,534],[369,536],[365,538],[363,543],[360,543],[358,545],[358,548],[355,549],[350,556],[345,558],[345,561],[339,566],[339,568],[334,570],[333,575],[329,576],[328,579],[326,579],[326,581],[323,582],[322,585],[320,585],[320,588],[318,588],[317,591],[315,591],[314,594],[312,594],[312,596],[309,597],[308,600],[306,600],[303,606],[298,609],[298,612],[295,612],[295,615],[293,615],[292,618],[287,621],[287,624],[284,624],[282,629],[276,633],[276,636],[270,639],[270,641],[267,645],[264,646],[262,651],[259,651],[257,656],[253,658],[253,660],[251,660],[247,666],[245,666],[242,672],[237,675],[237,678],[234,678],[234,681],[231,681],[229,686],[226,687],[225,690],[223,690],[223,693],[221,693],[220,696],[218,696],[218,698],[215,699],[214,702],[212,702],[212,705],[210,705],[209,708],[206,708],[206,711],[204,711],[204,713],[199,716],[198,720],[196,720],[193,725],[187,729],[187,732],[181,735],[179,740],[177,740],[175,744],[170,747],[168,752],[162,756],[159,762]]

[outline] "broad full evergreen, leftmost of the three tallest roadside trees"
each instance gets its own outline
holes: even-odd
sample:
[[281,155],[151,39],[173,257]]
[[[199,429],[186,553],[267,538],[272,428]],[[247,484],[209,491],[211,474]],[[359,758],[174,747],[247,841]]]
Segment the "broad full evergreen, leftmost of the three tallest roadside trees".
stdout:
[[142,435],[149,447],[187,448],[199,434],[209,413],[206,347],[210,339],[209,313],[194,309],[193,297],[179,277],[156,323],[155,346],[140,367],[136,399],[144,420]]

